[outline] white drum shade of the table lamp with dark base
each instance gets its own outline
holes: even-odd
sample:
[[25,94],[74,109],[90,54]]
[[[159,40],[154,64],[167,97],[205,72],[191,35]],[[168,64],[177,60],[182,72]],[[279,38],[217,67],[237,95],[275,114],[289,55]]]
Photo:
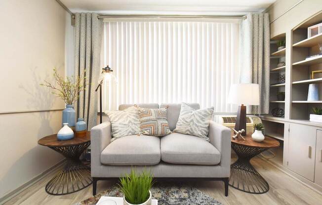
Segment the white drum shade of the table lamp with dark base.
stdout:
[[259,105],[259,85],[254,83],[233,84],[230,86],[228,103]]

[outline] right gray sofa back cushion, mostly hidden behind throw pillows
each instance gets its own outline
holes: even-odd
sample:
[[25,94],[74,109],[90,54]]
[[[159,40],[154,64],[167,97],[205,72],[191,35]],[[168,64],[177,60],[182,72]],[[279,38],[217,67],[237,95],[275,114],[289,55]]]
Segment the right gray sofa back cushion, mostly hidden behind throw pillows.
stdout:
[[[194,109],[200,109],[200,105],[198,103],[187,103],[187,104]],[[160,108],[167,107],[167,106],[168,106],[168,109],[166,111],[166,115],[167,115],[166,119],[168,120],[170,130],[173,131],[179,119],[181,103],[161,103]]]

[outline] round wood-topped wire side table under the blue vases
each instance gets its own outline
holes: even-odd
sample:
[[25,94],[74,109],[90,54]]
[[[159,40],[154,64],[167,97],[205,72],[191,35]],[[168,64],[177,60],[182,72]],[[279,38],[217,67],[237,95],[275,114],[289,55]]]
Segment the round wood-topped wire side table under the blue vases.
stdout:
[[57,140],[57,135],[41,138],[38,144],[47,146],[67,158],[63,170],[59,171],[47,184],[45,190],[51,195],[65,195],[77,192],[92,183],[90,167],[80,161],[80,155],[90,145],[90,132],[85,137]]

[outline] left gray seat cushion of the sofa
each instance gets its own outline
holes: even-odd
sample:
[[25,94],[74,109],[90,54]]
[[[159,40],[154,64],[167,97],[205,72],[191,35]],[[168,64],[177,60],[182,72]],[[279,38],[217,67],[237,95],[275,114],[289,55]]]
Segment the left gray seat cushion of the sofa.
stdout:
[[156,165],[160,160],[160,138],[153,136],[121,137],[101,153],[101,163],[106,165]]

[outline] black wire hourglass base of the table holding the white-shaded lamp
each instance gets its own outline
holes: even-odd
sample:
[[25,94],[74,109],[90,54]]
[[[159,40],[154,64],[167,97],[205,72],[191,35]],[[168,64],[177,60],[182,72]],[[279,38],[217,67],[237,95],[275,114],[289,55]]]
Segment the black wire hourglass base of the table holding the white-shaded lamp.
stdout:
[[241,146],[232,143],[232,149],[238,155],[238,160],[231,165],[229,185],[251,194],[268,192],[267,181],[250,164],[250,159],[268,148]]

